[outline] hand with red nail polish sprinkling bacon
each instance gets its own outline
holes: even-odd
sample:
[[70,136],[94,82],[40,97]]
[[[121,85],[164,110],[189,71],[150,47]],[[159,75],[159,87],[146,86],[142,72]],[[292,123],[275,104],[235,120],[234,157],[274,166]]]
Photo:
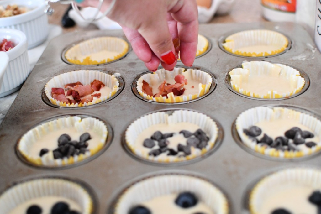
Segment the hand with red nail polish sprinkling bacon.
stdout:
[[[104,1],[102,12],[110,3]],[[97,4],[98,0],[85,0],[80,6]],[[156,71],[160,63],[173,70],[178,58],[173,41],[179,42],[176,50],[182,63],[193,64],[198,35],[195,0],[117,0],[107,16],[123,27],[134,52],[150,71]]]

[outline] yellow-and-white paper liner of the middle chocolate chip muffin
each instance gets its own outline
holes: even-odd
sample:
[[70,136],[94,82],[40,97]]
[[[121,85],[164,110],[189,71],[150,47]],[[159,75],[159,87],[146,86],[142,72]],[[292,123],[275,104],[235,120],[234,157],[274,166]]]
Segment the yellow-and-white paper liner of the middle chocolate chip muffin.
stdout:
[[[187,122],[191,124],[197,125],[201,128],[207,136],[209,136],[208,144],[202,150],[194,149],[190,155],[183,157],[176,156],[152,156],[149,155],[148,152],[142,151],[135,146],[135,140],[138,135],[142,133],[145,129],[155,124],[176,124],[181,122]],[[184,127],[182,127],[184,129]],[[195,130],[196,131],[196,130]],[[152,135],[152,133],[151,133]],[[175,110],[171,115],[167,112],[155,112],[145,116],[142,116],[135,120],[132,124],[130,124],[125,133],[125,141],[128,148],[135,155],[160,163],[170,163],[170,162],[180,162],[189,159],[193,159],[199,156],[204,155],[206,152],[211,150],[216,143],[216,139],[218,136],[218,126],[209,116],[206,116],[199,112],[189,111],[189,110]],[[143,143],[143,142],[142,142]]]

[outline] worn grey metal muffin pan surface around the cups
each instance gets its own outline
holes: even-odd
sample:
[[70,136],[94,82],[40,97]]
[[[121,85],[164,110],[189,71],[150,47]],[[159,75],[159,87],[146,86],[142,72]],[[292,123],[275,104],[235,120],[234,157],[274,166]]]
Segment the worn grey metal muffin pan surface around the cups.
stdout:
[[[248,213],[244,204],[247,203],[246,195],[250,191],[250,184],[264,175],[289,167],[321,168],[319,154],[286,162],[252,155],[235,142],[231,133],[232,124],[237,116],[252,107],[291,105],[321,115],[321,55],[308,32],[301,26],[288,22],[203,24],[199,29],[200,34],[212,43],[212,49],[206,55],[196,58],[193,66],[212,73],[216,79],[216,87],[208,96],[195,102],[175,105],[175,109],[199,111],[221,124],[224,139],[215,152],[202,160],[179,166],[147,164],[128,155],[122,146],[123,133],[128,124],[147,113],[167,110],[174,106],[148,103],[135,96],[132,84],[137,75],[146,72],[147,69],[133,51],[121,60],[98,66],[70,65],[61,59],[62,51],[71,43],[102,35],[124,38],[122,31],[70,33],[58,36],[48,44],[0,125],[0,191],[4,191],[13,182],[35,177],[61,176],[79,179],[89,184],[97,195],[96,213],[108,213],[117,194],[138,178],[168,170],[177,173],[184,171],[187,174],[197,174],[216,184],[229,199],[230,214],[243,214]],[[254,100],[239,96],[226,87],[224,82],[228,71],[242,64],[244,60],[261,59],[227,54],[218,46],[219,39],[232,31],[252,29],[276,30],[289,35],[292,41],[291,49],[281,55],[269,57],[269,60],[291,65],[305,72],[310,79],[310,86],[304,93],[291,99]],[[181,62],[178,63],[178,66],[180,65]],[[86,108],[53,108],[42,100],[42,90],[48,80],[61,73],[83,69],[120,73],[124,80],[124,89],[110,101]],[[55,170],[27,165],[15,155],[16,143],[23,133],[46,118],[65,114],[90,114],[108,121],[114,132],[108,149],[89,162]]]

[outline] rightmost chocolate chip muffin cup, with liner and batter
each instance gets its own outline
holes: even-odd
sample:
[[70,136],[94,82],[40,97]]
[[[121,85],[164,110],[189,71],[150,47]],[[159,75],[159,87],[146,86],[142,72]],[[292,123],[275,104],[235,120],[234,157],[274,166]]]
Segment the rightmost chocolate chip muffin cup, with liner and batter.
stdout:
[[320,117],[292,106],[248,109],[233,123],[232,135],[249,153],[274,160],[307,158],[321,149]]

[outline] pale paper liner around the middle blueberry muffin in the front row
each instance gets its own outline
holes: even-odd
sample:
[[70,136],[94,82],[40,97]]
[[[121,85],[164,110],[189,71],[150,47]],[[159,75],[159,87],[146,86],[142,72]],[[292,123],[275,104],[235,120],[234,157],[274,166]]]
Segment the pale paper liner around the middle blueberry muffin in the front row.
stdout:
[[114,213],[128,213],[131,207],[143,201],[185,191],[194,193],[215,214],[229,212],[227,198],[210,182],[190,175],[159,175],[145,178],[127,188],[119,197]]

